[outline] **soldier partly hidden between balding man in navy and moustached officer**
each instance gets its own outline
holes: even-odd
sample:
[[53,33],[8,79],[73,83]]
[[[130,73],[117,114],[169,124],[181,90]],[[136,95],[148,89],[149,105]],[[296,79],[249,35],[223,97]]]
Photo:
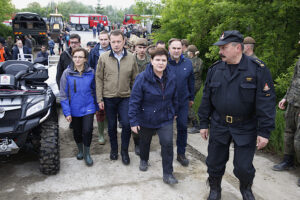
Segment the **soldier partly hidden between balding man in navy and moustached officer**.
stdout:
[[[198,57],[199,51],[195,45],[189,45],[187,48],[188,58],[192,61],[194,68],[194,77],[195,77],[195,90],[194,96],[196,96],[197,92],[200,90],[202,85],[202,71],[203,71],[203,61]],[[199,133],[200,127],[199,122],[196,116],[196,113],[192,109],[189,108],[189,120],[192,121],[193,128],[188,129],[188,133]]]

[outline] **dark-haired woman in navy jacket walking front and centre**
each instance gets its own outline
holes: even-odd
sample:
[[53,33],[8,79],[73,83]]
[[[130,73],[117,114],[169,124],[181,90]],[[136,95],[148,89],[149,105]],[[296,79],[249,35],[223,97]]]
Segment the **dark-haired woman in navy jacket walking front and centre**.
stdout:
[[163,181],[178,183],[173,176],[173,120],[178,103],[175,75],[167,66],[168,52],[158,48],[151,64],[134,82],[129,100],[131,130],[140,135],[140,170],[148,169],[151,139],[159,136],[163,165]]

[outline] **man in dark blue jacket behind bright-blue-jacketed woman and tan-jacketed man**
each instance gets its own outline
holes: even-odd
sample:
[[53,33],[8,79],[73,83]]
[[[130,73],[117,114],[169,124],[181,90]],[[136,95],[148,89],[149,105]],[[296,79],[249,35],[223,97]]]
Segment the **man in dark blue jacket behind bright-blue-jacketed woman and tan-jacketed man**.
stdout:
[[[97,68],[98,60],[100,55],[105,53],[106,51],[110,50],[109,45],[109,33],[107,31],[101,31],[99,34],[99,43],[96,44],[96,46],[91,50],[89,54],[89,60],[88,63],[90,67],[92,67],[94,70]],[[105,138],[104,138],[104,121],[105,121],[105,111],[104,109],[100,109],[96,112],[96,119],[98,124],[98,133],[99,133],[99,139],[98,142],[101,145],[105,144]]]

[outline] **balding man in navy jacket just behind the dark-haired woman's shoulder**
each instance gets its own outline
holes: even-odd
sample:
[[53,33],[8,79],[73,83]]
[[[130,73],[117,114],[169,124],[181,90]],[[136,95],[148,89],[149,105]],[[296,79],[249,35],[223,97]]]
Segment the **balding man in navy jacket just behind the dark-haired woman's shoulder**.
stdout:
[[180,39],[172,38],[169,44],[169,66],[176,75],[176,87],[178,93],[178,115],[177,123],[177,161],[184,167],[189,165],[185,156],[187,145],[187,122],[188,110],[194,104],[194,72],[192,62],[182,54],[182,43]]

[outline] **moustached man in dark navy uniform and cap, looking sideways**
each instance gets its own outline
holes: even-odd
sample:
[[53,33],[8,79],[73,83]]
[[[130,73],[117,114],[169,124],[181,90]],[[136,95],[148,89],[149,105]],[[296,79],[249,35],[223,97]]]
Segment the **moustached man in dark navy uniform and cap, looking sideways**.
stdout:
[[221,181],[234,142],[233,173],[244,200],[255,199],[251,190],[257,149],[264,148],[275,127],[275,92],[271,74],[260,60],[243,54],[243,35],[225,31],[218,42],[222,61],[208,70],[198,115],[200,134],[208,138],[206,159],[210,194],[221,199]]

